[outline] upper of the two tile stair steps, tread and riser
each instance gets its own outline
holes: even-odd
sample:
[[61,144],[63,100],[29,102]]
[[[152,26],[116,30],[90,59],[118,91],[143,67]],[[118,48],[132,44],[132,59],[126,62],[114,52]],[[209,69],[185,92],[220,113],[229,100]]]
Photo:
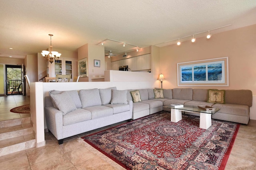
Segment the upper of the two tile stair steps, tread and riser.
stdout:
[[0,128],[0,141],[33,133],[31,123]]

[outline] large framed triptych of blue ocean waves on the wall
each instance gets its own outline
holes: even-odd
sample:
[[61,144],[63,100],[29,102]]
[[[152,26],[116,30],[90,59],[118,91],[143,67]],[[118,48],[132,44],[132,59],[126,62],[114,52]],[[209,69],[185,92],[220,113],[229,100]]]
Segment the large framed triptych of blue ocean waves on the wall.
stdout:
[[229,86],[228,57],[177,63],[178,86]]

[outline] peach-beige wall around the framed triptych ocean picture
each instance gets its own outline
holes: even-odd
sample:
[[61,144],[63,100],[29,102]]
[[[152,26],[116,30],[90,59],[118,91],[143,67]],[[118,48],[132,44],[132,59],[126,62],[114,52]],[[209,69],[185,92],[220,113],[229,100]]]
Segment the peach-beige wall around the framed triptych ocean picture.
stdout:
[[154,67],[154,74],[164,74],[163,88],[177,88],[177,63],[219,57],[228,57],[229,86],[192,88],[249,89],[255,95],[256,25],[214,34],[210,39],[201,37],[195,43],[185,41],[180,46],[161,47],[161,63]]

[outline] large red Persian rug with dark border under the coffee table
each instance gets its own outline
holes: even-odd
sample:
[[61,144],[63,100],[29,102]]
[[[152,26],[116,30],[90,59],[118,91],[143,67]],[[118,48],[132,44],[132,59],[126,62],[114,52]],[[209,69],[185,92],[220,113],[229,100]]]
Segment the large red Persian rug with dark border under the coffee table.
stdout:
[[129,170],[224,170],[240,124],[212,119],[206,130],[199,120],[161,111],[82,140]]

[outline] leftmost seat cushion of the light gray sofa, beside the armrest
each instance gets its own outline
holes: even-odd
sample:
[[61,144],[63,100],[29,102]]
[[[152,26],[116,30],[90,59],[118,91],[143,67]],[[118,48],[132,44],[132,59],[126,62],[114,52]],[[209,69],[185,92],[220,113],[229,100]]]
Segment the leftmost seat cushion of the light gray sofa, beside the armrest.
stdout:
[[63,125],[66,126],[90,119],[92,119],[90,111],[85,109],[76,109],[63,116]]

